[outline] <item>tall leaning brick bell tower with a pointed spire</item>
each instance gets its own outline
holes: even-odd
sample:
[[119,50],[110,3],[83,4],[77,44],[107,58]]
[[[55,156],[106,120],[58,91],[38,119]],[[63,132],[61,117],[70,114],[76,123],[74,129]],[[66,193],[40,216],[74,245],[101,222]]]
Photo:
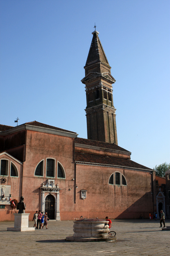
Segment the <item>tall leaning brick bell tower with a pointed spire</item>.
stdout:
[[113,105],[112,77],[109,62],[99,40],[99,32],[92,33],[93,39],[87,57],[85,84],[87,107],[87,138],[118,144],[115,108]]

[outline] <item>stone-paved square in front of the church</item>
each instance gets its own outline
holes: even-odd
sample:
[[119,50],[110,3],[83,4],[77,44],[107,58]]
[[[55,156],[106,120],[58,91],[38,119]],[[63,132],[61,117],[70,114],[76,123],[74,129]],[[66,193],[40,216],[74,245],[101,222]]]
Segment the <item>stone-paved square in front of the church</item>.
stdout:
[[[170,226],[170,220],[166,220]],[[0,223],[2,256],[169,256],[170,231],[162,231],[159,221],[113,220],[117,241],[68,242],[73,235],[73,221],[48,221],[48,230],[6,231],[14,222]],[[33,226],[33,222],[29,222]]]

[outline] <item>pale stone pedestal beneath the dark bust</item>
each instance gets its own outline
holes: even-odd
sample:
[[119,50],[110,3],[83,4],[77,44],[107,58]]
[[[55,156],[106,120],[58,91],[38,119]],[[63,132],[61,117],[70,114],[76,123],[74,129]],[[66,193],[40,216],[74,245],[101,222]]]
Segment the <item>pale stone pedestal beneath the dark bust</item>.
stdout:
[[35,227],[29,227],[30,213],[13,213],[15,216],[14,227],[8,227],[7,231],[34,231]]

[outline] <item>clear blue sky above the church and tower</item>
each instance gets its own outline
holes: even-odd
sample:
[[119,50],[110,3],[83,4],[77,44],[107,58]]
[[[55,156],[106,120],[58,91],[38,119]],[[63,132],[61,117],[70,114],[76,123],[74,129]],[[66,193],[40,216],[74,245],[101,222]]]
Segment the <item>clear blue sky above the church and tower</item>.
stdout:
[[118,144],[170,163],[169,0],[0,0],[0,124],[39,121],[87,138],[84,77],[93,26],[116,82]]

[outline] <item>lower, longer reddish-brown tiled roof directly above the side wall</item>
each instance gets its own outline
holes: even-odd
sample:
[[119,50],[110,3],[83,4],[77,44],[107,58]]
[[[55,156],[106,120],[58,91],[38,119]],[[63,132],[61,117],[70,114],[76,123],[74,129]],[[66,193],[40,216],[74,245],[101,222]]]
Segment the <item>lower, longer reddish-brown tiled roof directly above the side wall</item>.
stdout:
[[108,156],[97,155],[97,154],[75,152],[75,160],[86,162],[86,163],[110,164],[110,165],[119,165],[123,167],[133,167],[133,168],[139,168],[139,169],[145,169],[145,170],[152,170],[151,168],[138,164],[132,160],[128,160],[125,158],[115,158],[110,156],[108,157]]

